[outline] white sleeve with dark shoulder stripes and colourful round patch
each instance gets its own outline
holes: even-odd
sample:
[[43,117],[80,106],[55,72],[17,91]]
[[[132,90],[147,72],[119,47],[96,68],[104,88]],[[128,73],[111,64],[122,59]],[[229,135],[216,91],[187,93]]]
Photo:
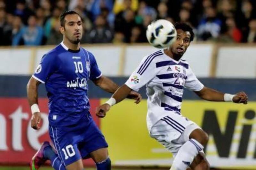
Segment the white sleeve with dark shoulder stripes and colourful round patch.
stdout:
[[134,91],[139,91],[141,87],[146,85],[154,77],[156,77],[156,63],[150,56],[146,56],[126,81],[125,85]]

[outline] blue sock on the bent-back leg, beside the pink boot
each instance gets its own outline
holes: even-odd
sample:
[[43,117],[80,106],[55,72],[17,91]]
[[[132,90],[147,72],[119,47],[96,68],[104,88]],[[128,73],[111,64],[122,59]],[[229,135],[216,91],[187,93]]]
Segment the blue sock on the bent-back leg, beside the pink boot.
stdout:
[[64,164],[61,162],[58,154],[56,154],[51,147],[44,148],[44,157],[51,160],[52,167],[56,170],[66,170]]

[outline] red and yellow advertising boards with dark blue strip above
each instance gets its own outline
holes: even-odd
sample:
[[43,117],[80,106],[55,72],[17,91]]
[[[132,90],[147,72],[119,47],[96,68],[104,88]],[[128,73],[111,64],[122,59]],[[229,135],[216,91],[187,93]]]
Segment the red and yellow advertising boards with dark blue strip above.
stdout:
[[[27,165],[40,143],[49,140],[47,98],[44,86],[39,87],[39,106],[43,112],[40,130],[30,128],[30,108],[26,99],[29,76],[0,76],[0,164]],[[119,85],[127,78],[113,77]],[[256,168],[256,86],[253,79],[200,79],[206,86],[222,92],[244,90],[248,105],[198,100],[184,92],[182,114],[200,125],[210,136],[205,153],[212,167]],[[110,94],[89,82],[91,113],[109,144],[114,166],[170,166],[172,154],[148,135],[146,127],[146,94],[135,105],[124,100],[112,107],[106,118],[98,119],[95,108]],[[93,166],[92,160],[84,161]]]

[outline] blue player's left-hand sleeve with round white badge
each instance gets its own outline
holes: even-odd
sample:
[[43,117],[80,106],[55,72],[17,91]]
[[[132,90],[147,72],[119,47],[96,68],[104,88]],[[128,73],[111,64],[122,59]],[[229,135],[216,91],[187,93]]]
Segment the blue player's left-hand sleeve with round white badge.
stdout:
[[53,55],[44,55],[32,77],[41,83],[45,83],[47,78],[55,71],[55,64],[56,61]]

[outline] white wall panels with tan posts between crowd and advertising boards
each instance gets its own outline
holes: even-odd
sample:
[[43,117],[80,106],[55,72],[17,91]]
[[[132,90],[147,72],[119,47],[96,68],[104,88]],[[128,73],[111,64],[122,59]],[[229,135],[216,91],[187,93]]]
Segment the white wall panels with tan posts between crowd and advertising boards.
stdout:
[[[54,46],[0,48],[0,75],[31,75],[42,56]],[[147,44],[83,45],[107,76],[129,76],[153,51]],[[256,45],[192,43],[183,56],[199,78],[255,78]],[[106,64],[107,63],[107,64]]]

